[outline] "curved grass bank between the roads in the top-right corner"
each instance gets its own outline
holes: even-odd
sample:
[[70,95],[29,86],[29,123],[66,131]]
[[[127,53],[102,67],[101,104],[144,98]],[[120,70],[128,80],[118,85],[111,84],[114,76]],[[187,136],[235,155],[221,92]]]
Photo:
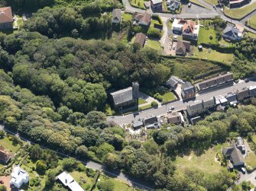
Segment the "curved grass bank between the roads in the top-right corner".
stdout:
[[242,8],[229,9],[225,7],[224,13],[231,18],[241,19],[245,17],[245,15],[249,14],[251,11],[254,11],[255,8],[256,8],[256,2],[253,2],[250,5],[245,5],[245,7],[242,7]]

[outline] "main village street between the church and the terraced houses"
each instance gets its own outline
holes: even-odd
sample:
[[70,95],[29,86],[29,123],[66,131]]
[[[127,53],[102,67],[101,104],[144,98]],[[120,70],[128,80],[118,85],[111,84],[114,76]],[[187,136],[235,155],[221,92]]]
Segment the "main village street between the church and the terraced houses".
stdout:
[[[248,82],[241,82],[238,84],[234,84],[232,86],[224,87],[224,88],[219,88],[219,89],[214,89],[212,91],[205,92],[203,94],[197,94],[196,95],[196,100],[203,100],[208,97],[214,97],[217,95],[226,95],[229,92],[235,92],[238,89],[245,88],[248,86],[254,86],[256,85],[256,81],[248,81]],[[158,107],[157,109],[151,109],[151,110],[144,110],[139,113],[139,115],[135,116],[133,114],[127,115],[127,116],[110,116],[108,117],[108,121],[114,121],[115,123],[118,124],[128,124],[131,123],[132,121],[138,120],[138,119],[143,119],[144,117],[147,116],[163,116],[164,114],[167,113],[167,110],[169,107],[174,106],[175,110],[185,110],[186,109],[187,103],[182,100],[177,100],[173,103],[169,103],[167,105],[164,105],[162,107]]]

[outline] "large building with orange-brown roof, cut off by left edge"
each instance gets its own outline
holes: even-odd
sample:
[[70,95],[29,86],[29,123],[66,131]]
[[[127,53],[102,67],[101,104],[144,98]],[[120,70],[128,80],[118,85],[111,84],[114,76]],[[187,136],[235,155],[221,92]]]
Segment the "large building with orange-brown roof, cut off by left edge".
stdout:
[[0,30],[12,29],[11,7],[0,8]]

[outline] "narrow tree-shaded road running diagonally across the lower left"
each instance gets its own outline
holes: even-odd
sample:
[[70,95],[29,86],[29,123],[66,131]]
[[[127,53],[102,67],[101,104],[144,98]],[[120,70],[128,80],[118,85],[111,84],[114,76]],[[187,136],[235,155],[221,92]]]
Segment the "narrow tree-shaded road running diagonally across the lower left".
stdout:
[[[27,138],[24,138],[21,135],[18,135],[17,132],[12,132],[9,129],[6,129],[5,126],[0,125],[0,129],[5,129],[5,131],[8,132],[9,134],[16,135],[19,138],[21,138],[21,140],[23,140],[25,142],[30,142],[32,145],[37,144],[35,142],[31,142],[31,140],[28,140]],[[40,145],[40,146],[41,146],[41,148],[49,149],[49,148],[44,147],[42,145]],[[57,152],[57,154],[60,154],[63,157],[70,158],[70,156],[67,155],[67,154],[64,154],[64,153],[59,152],[59,151],[56,151],[56,152]],[[77,158],[76,158],[76,160],[80,161]],[[122,173],[121,171],[107,170],[102,164],[99,164],[99,163],[96,163],[96,162],[93,162],[93,161],[81,161],[81,162],[83,164],[85,164],[86,167],[92,168],[93,170],[100,170],[100,171],[108,174],[111,177],[115,177],[116,179],[121,180],[122,182],[131,183],[132,186],[134,186],[134,187],[138,187],[138,188],[143,189],[143,190],[154,190],[153,185],[151,183],[146,183],[143,180],[138,180],[134,177],[131,177],[128,174]]]

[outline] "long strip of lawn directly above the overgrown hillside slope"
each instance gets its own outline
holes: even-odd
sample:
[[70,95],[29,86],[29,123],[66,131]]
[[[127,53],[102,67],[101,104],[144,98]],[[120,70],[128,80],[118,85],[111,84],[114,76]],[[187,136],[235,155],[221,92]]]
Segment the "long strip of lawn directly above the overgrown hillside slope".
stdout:
[[208,49],[203,48],[203,51],[199,51],[197,47],[194,48],[194,56],[199,59],[209,59],[212,61],[225,62],[231,64],[234,61],[235,56],[232,53],[220,53],[214,49],[208,53]]

